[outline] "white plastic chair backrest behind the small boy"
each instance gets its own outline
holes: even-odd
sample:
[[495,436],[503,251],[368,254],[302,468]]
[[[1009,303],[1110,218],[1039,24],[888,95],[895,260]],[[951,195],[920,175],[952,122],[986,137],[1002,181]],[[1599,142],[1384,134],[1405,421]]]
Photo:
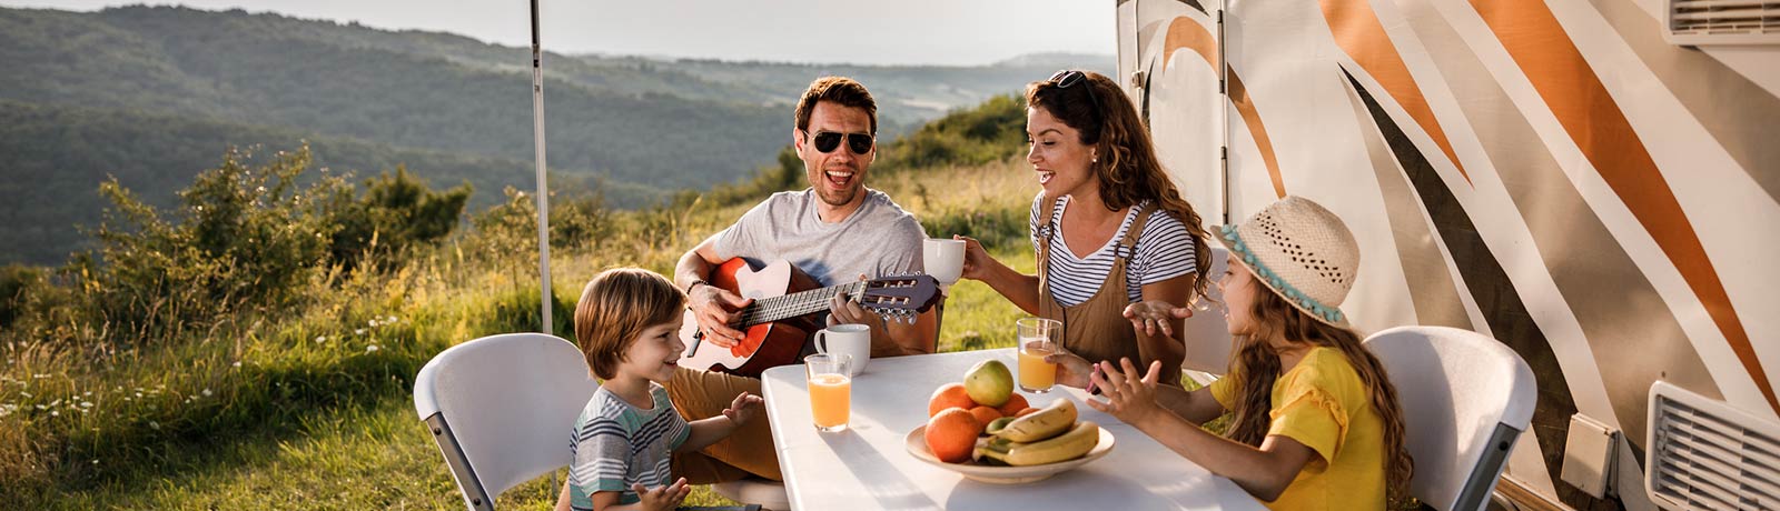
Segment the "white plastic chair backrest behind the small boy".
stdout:
[[575,344],[545,334],[504,334],[452,346],[415,378],[427,422],[470,509],[495,509],[500,491],[570,465],[570,431],[598,381]]

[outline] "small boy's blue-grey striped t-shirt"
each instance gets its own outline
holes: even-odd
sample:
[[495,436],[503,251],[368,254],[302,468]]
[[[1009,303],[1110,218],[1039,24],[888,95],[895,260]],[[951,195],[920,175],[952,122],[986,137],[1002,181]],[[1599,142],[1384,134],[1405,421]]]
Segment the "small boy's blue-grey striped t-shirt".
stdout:
[[568,470],[570,507],[593,509],[595,491],[623,491],[618,504],[632,504],[641,499],[630,484],[657,488],[673,483],[668,470],[673,449],[685,444],[692,428],[673,410],[668,387],[650,383],[650,397],[655,406],[643,410],[602,385],[587,399],[568,444],[575,460]]

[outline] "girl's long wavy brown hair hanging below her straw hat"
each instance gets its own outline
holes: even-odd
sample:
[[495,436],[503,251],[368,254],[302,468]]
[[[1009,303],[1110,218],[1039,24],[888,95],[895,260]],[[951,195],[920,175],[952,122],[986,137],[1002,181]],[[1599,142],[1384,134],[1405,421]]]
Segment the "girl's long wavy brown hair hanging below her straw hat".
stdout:
[[[1230,268],[1232,271],[1246,271]],[[1262,286],[1258,280],[1246,280],[1248,286]],[[1273,383],[1280,380],[1280,357],[1267,339],[1287,339],[1290,342],[1308,342],[1323,348],[1335,348],[1347,364],[1360,374],[1371,394],[1372,410],[1385,429],[1385,495],[1388,502],[1403,502],[1408,497],[1410,476],[1415,472],[1415,460],[1403,447],[1404,426],[1403,408],[1397,406],[1397,387],[1390,385],[1385,364],[1360,346],[1360,335],[1353,330],[1331,326],[1298,311],[1276,293],[1255,293],[1250,307],[1250,332],[1237,335],[1237,353],[1230,358],[1230,376],[1235,381],[1235,419],[1225,436],[1235,442],[1260,447],[1267,438],[1267,426],[1273,421]]]

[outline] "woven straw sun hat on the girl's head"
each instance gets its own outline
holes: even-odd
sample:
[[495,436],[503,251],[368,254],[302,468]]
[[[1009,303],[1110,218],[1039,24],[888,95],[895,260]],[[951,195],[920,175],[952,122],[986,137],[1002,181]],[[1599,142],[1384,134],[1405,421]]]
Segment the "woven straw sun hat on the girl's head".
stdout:
[[1340,302],[1360,271],[1360,243],[1333,211],[1289,195],[1218,231],[1218,243],[1274,295],[1317,321],[1349,325]]

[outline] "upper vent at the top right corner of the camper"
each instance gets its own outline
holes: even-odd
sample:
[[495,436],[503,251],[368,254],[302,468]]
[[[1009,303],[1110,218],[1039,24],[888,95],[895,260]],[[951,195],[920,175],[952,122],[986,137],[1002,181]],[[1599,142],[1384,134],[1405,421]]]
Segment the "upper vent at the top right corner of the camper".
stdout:
[[1671,44],[1780,44],[1780,0],[1668,0]]

